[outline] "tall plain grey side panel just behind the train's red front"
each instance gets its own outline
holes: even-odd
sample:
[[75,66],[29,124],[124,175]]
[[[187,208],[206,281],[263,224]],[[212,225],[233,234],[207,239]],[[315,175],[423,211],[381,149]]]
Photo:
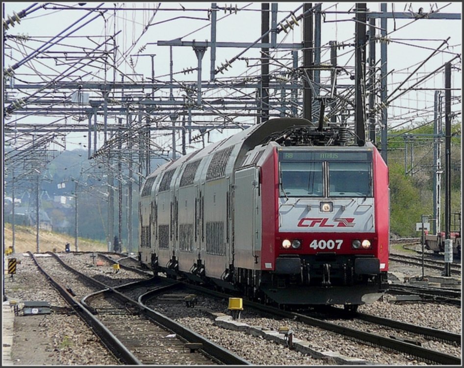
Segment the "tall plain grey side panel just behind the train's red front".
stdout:
[[235,172],[234,266],[259,269],[261,254],[261,200],[259,168]]

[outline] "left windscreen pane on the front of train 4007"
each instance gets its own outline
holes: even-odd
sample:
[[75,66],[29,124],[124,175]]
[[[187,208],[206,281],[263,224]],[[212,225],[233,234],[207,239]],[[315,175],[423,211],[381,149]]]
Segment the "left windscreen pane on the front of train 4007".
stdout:
[[322,196],[322,162],[281,162],[281,178],[282,196]]

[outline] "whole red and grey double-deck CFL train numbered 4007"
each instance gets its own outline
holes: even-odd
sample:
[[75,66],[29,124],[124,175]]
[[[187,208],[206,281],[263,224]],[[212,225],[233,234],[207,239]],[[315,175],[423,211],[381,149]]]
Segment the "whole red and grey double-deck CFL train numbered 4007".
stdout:
[[155,273],[355,310],[387,289],[388,169],[343,128],[276,118],[158,167],[139,206]]

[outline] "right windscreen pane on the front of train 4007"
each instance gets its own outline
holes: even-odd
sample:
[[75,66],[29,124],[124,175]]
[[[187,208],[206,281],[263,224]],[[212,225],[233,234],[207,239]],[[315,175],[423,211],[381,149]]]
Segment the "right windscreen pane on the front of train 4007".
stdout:
[[371,197],[369,162],[329,162],[330,197]]

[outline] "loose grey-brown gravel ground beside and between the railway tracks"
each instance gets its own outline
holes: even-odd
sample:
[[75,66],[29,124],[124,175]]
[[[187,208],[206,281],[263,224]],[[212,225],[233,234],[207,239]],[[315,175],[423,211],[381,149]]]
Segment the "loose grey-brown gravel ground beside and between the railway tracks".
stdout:
[[[28,257],[17,254],[21,261],[13,280],[5,280],[5,293],[9,300],[46,300],[54,306],[66,306],[65,301],[49,286],[47,280],[36,269]],[[79,257],[67,257],[73,266]],[[71,261],[70,261],[71,262]],[[91,270],[85,259],[82,270]],[[110,266],[99,269],[105,277],[113,277]],[[392,264],[397,274],[414,276],[420,268],[411,269],[404,265]],[[417,268],[417,267],[416,267]],[[439,272],[439,271],[438,271]],[[140,276],[138,276],[140,277]],[[136,278],[134,276],[134,278]],[[314,359],[310,356],[289,350],[275,342],[251,337],[244,332],[224,330],[214,326],[214,317],[205,312],[225,312],[227,302],[212,303],[209,299],[200,300],[196,308],[185,308],[183,304],[157,303],[160,312],[179,319],[185,326],[198,331],[210,340],[224,344],[236,354],[243,356],[255,365],[333,365],[330,359]],[[203,308],[203,309],[202,309]],[[412,303],[392,304],[388,295],[371,305],[360,306],[360,312],[385,316],[427,327],[461,333],[461,309],[445,304]],[[380,365],[425,365],[411,357],[394,352],[340,339],[326,331],[305,326],[288,320],[259,318],[243,311],[242,322],[249,325],[277,329],[287,325],[294,331],[294,337],[310,342],[318,351],[331,350],[341,355],[363,359]],[[33,315],[16,316],[12,347],[12,360],[16,365],[117,365],[118,362],[94,337],[88,327],[75,315]]]

